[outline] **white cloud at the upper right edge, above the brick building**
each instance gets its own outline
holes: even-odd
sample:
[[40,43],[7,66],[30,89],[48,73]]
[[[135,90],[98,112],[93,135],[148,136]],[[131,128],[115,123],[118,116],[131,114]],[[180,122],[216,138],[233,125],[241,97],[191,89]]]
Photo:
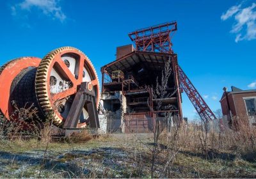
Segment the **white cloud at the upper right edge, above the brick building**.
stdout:
[[241,8],[242,4],[232,6],[221,15],[221,20],[234,17],[235,23],[230,33],[236,34],[236,42],[256,39],[256,3]]

